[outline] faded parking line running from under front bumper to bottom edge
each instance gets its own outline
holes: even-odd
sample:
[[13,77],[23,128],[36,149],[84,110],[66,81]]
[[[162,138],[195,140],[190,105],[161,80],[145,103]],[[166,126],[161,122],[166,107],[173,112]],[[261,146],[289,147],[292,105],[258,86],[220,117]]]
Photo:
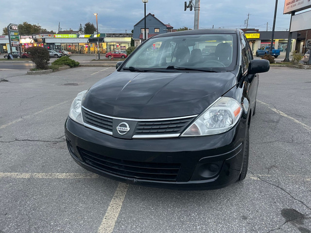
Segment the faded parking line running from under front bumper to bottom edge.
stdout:
[[119,183],[117,190],[108,206],[102,224],[98,229],[98,233],[112,233],[120,214],[128,186],[129,185],[127,183]]

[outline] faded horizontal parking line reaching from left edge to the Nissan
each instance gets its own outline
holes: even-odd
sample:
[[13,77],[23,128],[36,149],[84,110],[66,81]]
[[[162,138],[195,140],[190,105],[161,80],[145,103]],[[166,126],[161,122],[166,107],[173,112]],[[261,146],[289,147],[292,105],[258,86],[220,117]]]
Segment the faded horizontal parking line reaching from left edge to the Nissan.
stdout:
[[99,178],[97,174],[83,173],[17,173],[17,172],[0,172],[0,178],[14,179],[94,179]]

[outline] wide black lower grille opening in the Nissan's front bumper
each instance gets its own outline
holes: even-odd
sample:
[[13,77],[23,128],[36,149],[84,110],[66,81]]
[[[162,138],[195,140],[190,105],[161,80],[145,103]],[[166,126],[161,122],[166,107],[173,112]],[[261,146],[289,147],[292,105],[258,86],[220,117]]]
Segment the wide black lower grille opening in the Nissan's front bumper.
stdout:
[[79,148],[86,164],[115,175],[142,180],[175,182],[181,164],[135,162],[103,156]]

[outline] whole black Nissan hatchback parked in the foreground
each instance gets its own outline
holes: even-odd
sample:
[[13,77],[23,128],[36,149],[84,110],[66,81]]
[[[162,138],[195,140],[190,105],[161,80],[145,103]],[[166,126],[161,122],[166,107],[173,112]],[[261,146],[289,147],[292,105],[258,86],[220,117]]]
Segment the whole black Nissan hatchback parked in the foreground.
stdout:
[[257,73],[268,70],[241,30],[156,35],[73,100],[69,153],[126,183],[213,189],[242,181]]

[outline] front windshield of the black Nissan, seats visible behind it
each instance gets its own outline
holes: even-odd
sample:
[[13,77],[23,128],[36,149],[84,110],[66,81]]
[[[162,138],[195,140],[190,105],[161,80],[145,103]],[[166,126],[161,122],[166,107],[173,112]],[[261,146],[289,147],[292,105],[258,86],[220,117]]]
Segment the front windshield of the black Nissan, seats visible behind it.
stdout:
[[164,36],[146,41],[122,68],[231,71],[236,59],[236,34]]

